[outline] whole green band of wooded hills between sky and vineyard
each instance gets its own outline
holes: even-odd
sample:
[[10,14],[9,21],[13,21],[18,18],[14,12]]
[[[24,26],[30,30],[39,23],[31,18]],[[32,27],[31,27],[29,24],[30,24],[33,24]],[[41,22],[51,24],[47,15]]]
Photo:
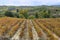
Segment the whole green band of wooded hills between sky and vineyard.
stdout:
[[0,17],[59,18],[60,6],[0,6]]

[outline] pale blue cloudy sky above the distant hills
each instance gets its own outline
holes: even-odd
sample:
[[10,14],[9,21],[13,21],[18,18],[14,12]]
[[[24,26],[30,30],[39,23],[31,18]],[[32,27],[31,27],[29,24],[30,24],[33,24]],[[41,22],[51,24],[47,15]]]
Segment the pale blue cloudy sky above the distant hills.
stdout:
[[60,0],[0,0],[0,5],[7,6],[60,5]]

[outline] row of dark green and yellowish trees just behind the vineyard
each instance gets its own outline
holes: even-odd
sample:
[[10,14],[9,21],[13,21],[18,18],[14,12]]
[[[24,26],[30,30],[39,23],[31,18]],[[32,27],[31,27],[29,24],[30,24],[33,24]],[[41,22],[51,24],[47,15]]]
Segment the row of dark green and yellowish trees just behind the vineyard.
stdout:
[[39,9],[39,12],[35,12],[34,15],[29,15],[29,10],[27,9],[23,9],[23,10],[16,9],[16,13],[11,11],[5,11],[4,16],[26,18],[26,19],[55,18],[54,16],[51,16],[51,10],[47,10],[47,9]]

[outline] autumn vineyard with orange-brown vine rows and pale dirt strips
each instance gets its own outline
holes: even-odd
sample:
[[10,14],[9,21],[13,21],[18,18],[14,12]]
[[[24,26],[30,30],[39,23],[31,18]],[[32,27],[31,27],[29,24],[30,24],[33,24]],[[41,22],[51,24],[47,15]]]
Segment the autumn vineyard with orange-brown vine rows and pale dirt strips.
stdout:
[[60,40],[60,18],[0,18],[0,40]]

